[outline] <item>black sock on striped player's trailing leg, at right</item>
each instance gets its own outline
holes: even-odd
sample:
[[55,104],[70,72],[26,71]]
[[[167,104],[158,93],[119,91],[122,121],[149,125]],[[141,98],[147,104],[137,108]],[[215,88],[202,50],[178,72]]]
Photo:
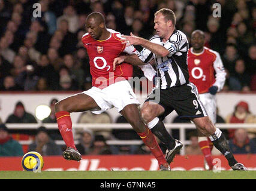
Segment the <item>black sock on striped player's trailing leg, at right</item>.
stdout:
[[230,146],[228,145],[228,141],[225,138],[224,134],[221,133],[221,136],[218,138],[215,134],[212,135],[215,140],[212,140],[213,145],[218,149],[228,160],[228,165],[233,166],[237,163],[236,159],[234,158],[233,153],[230,150]]

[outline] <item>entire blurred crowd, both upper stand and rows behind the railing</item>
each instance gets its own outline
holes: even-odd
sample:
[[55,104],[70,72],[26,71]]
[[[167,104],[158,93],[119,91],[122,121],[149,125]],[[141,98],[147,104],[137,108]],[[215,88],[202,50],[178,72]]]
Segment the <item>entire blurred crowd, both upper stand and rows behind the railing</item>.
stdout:
[[[41,17],[33,17],[34,0],[0,0],[0,91],[84,91],[91,88],[89,58],[81,38],[86,33],[86,17],[98,11],[106,17],[107,27],[122,34],[149,39],[154,35],[153,13],[160,8],[170,8],[176,14],[176,28],[182,30],[190,41],[191,33],[201,29],[206,34],[206,47],[221,54],[227,71],[223,91],[256,91],[256,7],[253,0],[102,0],[61,1],[41,0]],[[221,4],[221,17],[213,17],[212,5]],[[141,47],[135,46],[139,51]],[[141,76],[134,67],[134,76]],[[56,103],[51,100],[50,107]],[[242,107],[242,109],[241,109]],[[245,101],[240,101],[227,119],[219,116],[217,122],[255,123]],[[1,119],[0,119],[1,122]],[[2,123],[37,123],[18,102],[14,112]],[[43,121],[55,123],[54,112]],[[95,117],[91,112],[82,113],[77,123],[124,123],[124,118],[115,121],[107,113]],[[180,122],[178,119],[173,122]],[[49,133],[44,127],[32,135],[34,140],[26,148],[38,150],[43,155],[61,155],[64,148],[53,140],[61,139],[57,132]],[[177,131],[172,131],[175,138]],[[176,133],[176,134],[175,134]],[[243,129],[226,132],[234,153],[256,153],[255,130]],[[81,130],[77,135],[77,149],[83,155],[149,153],[143,145],[136,147],[112,147],[106,140],[136,140],[137,134],[129,130],[94,131]],[[188,152],[199,153],[195,144],[197,137],[187,133],[191,140]],[[4,148],[7,146],[7,149]],[[55,153],[49,150],[56,147]],[[6,153],[16,147],[16,153]],[[162,147],[162,145],[161,145]],[[24,153],[15,135],[0,125],[0,156],[21,156]],[[249,149],[248,149],[249,148]],[[251,149],[252,148],[252,149]],[[253,149],[254,148],[254,149]],[[162,149],[164,150],[164,148]]]

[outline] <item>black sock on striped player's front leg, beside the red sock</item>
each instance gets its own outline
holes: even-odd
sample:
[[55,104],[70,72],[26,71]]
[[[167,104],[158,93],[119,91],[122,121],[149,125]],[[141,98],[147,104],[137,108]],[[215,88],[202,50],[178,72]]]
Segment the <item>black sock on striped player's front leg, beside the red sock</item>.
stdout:
[[168,133],[164,123],[159,119],[158,123],[150,129],[153,134],[156,135],[162,143],[165,144],[168,150],[171,150],[175,147],[175,139]]

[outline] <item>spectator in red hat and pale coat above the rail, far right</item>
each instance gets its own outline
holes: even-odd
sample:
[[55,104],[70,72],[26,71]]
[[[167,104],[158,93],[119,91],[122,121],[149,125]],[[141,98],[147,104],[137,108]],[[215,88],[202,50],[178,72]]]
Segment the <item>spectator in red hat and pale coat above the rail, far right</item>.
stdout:
[[[239,101],[234,107],[234,112],[226,117],[230,124],[256,123],[256,118],[249,111],[249,104],[246,101]],[[234,138],[234,129],[228,129],[228,138]]]

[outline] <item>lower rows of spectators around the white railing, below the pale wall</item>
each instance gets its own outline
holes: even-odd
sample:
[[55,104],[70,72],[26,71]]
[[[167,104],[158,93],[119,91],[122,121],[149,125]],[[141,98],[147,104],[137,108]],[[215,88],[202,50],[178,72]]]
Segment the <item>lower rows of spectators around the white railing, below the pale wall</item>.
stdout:
[[[66,149],[62,141],[61,134],[58,129],[47,129],[44,124],[56,124],[54,113],[54,104],[58,100],[52,98],[49,103],[52,112],[43,119],[39,124],[33,113],[26,111],[22,101],[17,101],[14,112],[8,115],[6,121],[0,119],[0,156],[22,156],[28,151],[37,151],[43,156],[47,155],[62,155]],[[224,118],[217,114],[217,124],[256,124],[256,116],[251,113],[248,102],[239,101],[234,106],[233,112],[229,113]],[[128,124],[124,116],[119,116],[113,119],[107,112],[96,115],[90,111],[80,113],[76,124]],[[172,123],[191,123],[185,119],[180,119],[178,116],[171,121]],[[37,124],[38,129],[8,129],[5,124]],[[168,129],[174,138],[180,139],[179,129]],[[256,153],[256,128],[236,128],[222,129],[227,138],[231,151],[235,154]],[[197,131],[194,129],[185,130],[185,140],[190,141],[190,144],[184,146],[186,155],[201,155],[201,149],[198,146]],[[157,138],[156,138],[157,139]],[[82,155],[150,155],[150,150],[146,147],[141,138],[132,129],[112,129],[106,130],[94,128],[92,130],[86,128],[76,128],[74,130],[74,140],[76,141],[77,150]],[[158,140],[158,139],[157,139]],[[22,145],[19,141],[29,141]],[[32,143],[31,143],[32,141]],[[57,144],[58,141],[61,141]],[[108,142],[110,141],[110,142]],[[113,143],[116,141],[116,143]],[[119,141],[119,143],[117,143]],[[136,144],[125,144],[124,141],[141,141]],[[113,144],[112,144],[112,143]],[[122,142],[122,144],[120,144]],[[110,143],[110,144],[109,144]],[[166,147],[158,140],[162,152],[165,153]],[[213,155],[219,155],[215,149]]]

